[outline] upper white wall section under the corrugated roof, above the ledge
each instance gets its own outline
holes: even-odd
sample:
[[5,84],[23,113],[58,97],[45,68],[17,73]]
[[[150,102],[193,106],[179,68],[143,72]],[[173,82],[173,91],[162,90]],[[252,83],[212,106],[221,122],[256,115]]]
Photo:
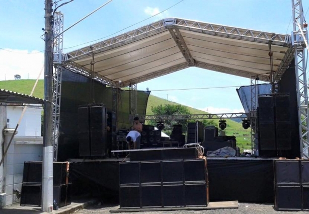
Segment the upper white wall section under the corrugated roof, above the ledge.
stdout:
[[[15,128],[24,107],[7,106],[8,128]],[[23,120],[19,124],[16,136],[41,136],[41,112],[42,107],[28,107]]]

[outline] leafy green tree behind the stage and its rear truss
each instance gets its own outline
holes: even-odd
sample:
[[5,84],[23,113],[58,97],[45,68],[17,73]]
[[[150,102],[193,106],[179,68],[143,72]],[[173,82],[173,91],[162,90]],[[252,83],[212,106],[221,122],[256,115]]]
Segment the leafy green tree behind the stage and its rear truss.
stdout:
[[[190,111],[186,106],[182,105],[170,105],[170,104],[165,104],[160,105],[160,106],[155,106],[151,107],[151,111],[154,115],[180,115],[180,114],[190,114]],[[149,122],[149,125],[154,125],[157,126],[157,122],[159,121],[153,121],[151,120]],[[174,124],[182,124],[182,130],[187,131],[187,120],[165,120],[164,122],[164,129],[163,131],[171,135],[172,130],[173,130],[173,125]]]

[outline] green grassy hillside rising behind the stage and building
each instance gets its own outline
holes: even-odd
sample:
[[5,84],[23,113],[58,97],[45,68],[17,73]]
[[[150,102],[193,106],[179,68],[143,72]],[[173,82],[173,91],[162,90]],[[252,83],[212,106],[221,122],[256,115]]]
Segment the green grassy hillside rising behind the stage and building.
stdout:
[[[10,90],[14,92],[19,92],[23,94],[30,95],[31,90],[34,86],[35,80],[9,80],[9,81],[0,81],[0,89]],[[33,93],[34,97],[43,98],[44,96],[44,81],[39,80],[38,85]],[[179,103],[171,102],[156,96],[149,96],[146,114],[152,115],[151,107],[164,104],[179,105]],[[188,107],[191,114],[205,114],[207,112],[201,111],[195,108]],[[224,113],[224,112],[222,112]],[[214,119],[214,122],[218,124],[218,119]],[[235,135],[237,136],[237,144],[241,149],[251,149],[251,139],[248,140],[248,137],[244,137],[244,134],[250,136],[250,129],[245,130],[242,127],[242,123],[235,122],[233,120],[226,120],[226,135]],[[234,133],[238,133],[237,135]]]

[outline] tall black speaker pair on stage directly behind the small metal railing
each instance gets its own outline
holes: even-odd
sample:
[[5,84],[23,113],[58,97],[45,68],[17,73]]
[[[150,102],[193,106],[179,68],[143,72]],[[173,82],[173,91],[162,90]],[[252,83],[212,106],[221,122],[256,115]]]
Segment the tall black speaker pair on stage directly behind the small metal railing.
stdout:
[[204,141],[204,125],[201,121],[189,122],[187,132],[187,143]]

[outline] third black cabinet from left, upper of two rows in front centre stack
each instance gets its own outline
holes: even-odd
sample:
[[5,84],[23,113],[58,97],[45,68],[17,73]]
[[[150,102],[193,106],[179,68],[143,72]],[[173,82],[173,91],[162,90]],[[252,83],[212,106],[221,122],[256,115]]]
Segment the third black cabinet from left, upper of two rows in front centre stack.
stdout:
[[183,165],[182,161],[163,161],[162,162],[162,182],[183,182]]

